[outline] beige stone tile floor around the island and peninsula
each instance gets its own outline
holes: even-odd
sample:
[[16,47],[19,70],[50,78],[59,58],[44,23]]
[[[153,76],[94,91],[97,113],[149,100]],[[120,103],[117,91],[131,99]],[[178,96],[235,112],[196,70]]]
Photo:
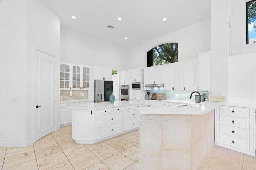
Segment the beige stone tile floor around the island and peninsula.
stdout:
[[[77,144],[62,127],[26,148],[0,147],[1,170],[139,170],[139,130]],[[256,157],[214,146],[200,170],[256,170]]]

